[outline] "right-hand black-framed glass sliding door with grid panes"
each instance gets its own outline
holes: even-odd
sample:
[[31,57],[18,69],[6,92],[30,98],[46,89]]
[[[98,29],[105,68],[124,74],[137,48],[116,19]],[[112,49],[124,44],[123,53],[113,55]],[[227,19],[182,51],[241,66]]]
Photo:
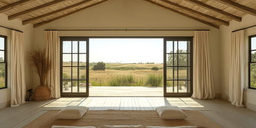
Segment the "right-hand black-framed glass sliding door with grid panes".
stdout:
[[164,96],[193,93],[193,37],[164,39]]

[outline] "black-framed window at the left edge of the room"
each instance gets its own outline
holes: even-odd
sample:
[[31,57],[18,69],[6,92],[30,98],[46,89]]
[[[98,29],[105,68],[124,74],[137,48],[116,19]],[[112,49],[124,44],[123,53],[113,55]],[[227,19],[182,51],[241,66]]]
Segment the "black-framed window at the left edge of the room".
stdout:
[[7,88],[6,42],[7,37],[0,35],[0,89]]

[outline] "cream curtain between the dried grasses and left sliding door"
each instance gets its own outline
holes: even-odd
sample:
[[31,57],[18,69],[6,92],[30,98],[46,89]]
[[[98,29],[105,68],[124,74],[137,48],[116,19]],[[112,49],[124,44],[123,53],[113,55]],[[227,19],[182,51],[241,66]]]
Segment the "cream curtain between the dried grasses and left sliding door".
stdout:
[[51,89],[51,98],[60,98],[60,42],[57,31],[45,31],[46,55],[52,61],[52,68],[46,83]]

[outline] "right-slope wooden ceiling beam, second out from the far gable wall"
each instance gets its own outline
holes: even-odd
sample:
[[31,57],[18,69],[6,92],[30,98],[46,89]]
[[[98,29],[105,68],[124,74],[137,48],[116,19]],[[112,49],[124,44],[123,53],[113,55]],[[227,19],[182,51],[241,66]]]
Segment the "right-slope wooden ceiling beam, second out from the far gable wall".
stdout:
[[191,13],[194,13],[194,14],[201,15],[202,17],[205,17],[205,18],[207,18],[207,19],[213,20],[213,21],[218,22],[218,23],[220,23],[220,24],[222,24],[222,25],[229,26],[229,22],[227,22],[227,21],[224,21],[224,20],[221,20],[221,19],[212,17],[212,16],[210,16],[210,15],[207,15],[207,14],[204,14],[204,13],[201,13],[201,12],[197,12],[197,11],[195,11],[195,10],[193,10],[193,9],[189,9],[189,8],[184,7],[184,6],[181,6],[181,5],[179,5],[179,4],[175,4],[175,3],[172,3],[172,2],[167,1],[167,0],[158,0],[158,1],[167,3],[167,4],[171,5],[171,6],[178,7],[179,9],[182,9],[182,10],[185,10],[185,11],[188,11],[188,12],[191,12]]

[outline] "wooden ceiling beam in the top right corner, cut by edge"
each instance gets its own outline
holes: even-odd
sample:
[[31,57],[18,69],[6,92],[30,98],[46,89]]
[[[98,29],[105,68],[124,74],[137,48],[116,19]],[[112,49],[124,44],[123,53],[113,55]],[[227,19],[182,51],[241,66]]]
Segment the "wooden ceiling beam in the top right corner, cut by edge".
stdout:
[[235,3],[233,1],[229,1],[229,0],[217,0],[217,1],[222,3],[222,4],[234,7],[235,9],[237,9],[239,11],[242,11],[242,12],[245,12],[245,13],[249,13],[251,15],[256,16],[256,10],[251,9],[250,7],[247,7],[247,6],[244,6],[244,5]]

